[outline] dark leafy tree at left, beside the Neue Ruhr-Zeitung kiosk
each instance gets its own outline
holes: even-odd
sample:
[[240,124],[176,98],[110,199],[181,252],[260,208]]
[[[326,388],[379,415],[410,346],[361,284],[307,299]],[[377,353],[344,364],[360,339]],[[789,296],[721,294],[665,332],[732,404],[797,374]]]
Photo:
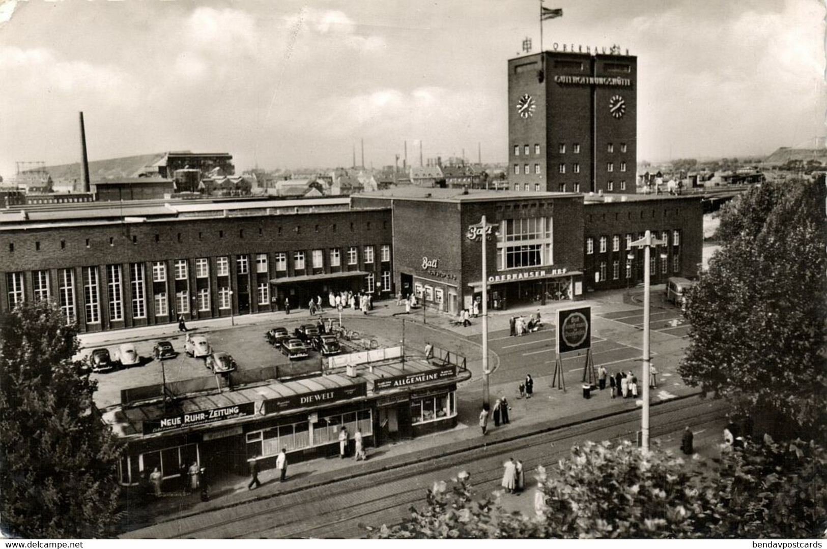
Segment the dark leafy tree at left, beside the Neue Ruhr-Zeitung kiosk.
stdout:
[[0,337],[0,520],[18,537],[99,537],[117,504],[117,443],[97,382],[72,362],[77,328],[26,301]]

